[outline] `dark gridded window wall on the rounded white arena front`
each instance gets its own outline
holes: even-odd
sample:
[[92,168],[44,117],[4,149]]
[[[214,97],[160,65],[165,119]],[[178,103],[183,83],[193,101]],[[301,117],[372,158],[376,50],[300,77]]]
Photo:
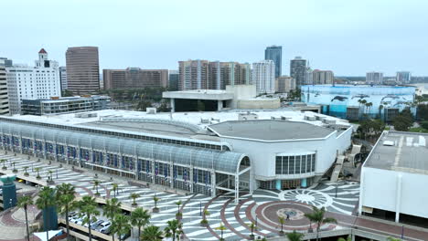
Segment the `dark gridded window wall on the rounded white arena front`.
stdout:
[[277,155],[275,160],[275,174],[302,174],[314,173],[316,168],[316,154]]

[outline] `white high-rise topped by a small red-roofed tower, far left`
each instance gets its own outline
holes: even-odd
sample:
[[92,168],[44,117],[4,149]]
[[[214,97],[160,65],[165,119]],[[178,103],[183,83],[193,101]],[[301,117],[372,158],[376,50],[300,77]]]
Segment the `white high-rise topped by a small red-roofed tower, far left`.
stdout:
[[49,60],[44,48],[38,52],[35,67],[14,65],[5,68],[11,114],[19,114],[23,99],[49,99],[61,96],[59,66]]

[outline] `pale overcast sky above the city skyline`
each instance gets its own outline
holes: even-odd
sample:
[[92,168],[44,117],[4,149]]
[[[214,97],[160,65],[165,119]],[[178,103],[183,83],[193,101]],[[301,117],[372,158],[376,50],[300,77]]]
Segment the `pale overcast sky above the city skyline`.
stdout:
[[428,76],[425,0],[11,0],[0,2],[0,57],[34,64],[44,47],[97,46],[101,68],[177,69],[200,58],[254,62],[283,46],[337,76],[410,70]]

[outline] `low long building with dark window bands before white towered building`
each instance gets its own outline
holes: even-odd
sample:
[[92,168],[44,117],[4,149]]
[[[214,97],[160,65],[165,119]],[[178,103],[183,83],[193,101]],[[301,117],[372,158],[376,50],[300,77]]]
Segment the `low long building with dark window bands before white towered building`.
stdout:
[[55,115],[90,110],[110,109],[108,96],[82,96],[22,100],[22,115]]

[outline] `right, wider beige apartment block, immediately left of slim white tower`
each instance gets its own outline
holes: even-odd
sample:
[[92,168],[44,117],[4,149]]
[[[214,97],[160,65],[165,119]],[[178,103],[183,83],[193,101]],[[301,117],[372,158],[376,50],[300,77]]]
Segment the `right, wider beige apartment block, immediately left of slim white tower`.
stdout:
[[251,82],[251,66],[238,62],[209,62],[209,89],[226,89],[226,86]]

